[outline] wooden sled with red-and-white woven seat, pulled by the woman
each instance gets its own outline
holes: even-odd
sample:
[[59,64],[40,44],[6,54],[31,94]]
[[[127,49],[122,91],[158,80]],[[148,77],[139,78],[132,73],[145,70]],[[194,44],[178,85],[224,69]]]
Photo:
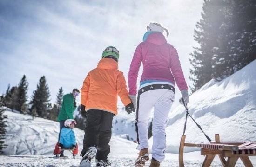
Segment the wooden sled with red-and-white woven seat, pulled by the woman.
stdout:
[[216,155],[219,156],[223,167],[235,167],[239,158],[245,167],[253,167],[249,156],[256,156],[256,142],[220,142],[219,134],[215,135],[215,142],[209,144],[185,143],[185,139],[186,135],[182,135],[179,149],[180,167],[185,167],[183,162],[185,146],[201,148],[201,155],[205,155],[202,167],[209,167]]

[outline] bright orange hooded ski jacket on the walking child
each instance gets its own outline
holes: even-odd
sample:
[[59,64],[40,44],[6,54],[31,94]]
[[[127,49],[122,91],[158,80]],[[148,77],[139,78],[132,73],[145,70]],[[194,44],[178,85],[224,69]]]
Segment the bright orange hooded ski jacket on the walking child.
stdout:
[[83,82],[81,104],[86,106],[86,110],[100,109],[117,115],[117,95],[125,106],[132,103],[117,62],[112,58],[103,58]]

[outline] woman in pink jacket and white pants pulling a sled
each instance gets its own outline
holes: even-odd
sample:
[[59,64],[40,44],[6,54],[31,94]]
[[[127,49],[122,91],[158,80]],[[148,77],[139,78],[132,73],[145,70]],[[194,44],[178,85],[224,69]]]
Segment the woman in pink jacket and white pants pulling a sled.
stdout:
[[[153,148],[150,167],[160,167],[166,147],[165,126],[175,97],[175,82],[185,103],[189,102],[188,87],[176,49],[167,43],[163,32],[168,30],[159,23],[150,23],[147,32],[134,53],[128,73],[129,95],[137,104],[136,132],[139,156],[135,167],[143,167],[148,156],[148,119],[154,108]],[[137,94],[138,72],[143,64],[140,88]],[[137,103],[136,103],[137,99]]]

